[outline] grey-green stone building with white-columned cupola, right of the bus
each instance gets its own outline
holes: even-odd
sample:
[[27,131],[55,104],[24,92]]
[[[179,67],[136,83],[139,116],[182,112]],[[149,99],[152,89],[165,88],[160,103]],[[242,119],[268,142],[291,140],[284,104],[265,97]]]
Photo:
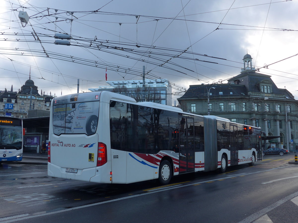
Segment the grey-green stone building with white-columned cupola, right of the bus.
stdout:
[[298,145],[298,101],[287,89],[278,88],[270,75],[252,67],[249,54],[243,57],[240,74],[228,83],[190,85],[177,100],[184,110],[194,114],[209,113],[261,127],[266,136],[272,136],[267,137],[266,148],[283,147],[287,141],[289,149]]

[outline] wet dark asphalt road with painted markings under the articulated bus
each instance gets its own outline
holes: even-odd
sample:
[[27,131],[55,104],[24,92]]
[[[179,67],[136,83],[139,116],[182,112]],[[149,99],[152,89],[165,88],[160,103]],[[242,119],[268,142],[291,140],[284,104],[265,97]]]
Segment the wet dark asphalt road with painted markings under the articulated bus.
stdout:
[[288,164],[294,155],[263,159],[254,167],[231,167],[225,174],[181,175],[165,187],[154,181],[108,185],[65,180],[48,177],[46,165],[3,164],[0,223],[22,218],[22,222],[241,222],[247,218],[246,222],[254,222],[259,217],[298,222],[298,206],[291,201],[298,196],[298,165]]

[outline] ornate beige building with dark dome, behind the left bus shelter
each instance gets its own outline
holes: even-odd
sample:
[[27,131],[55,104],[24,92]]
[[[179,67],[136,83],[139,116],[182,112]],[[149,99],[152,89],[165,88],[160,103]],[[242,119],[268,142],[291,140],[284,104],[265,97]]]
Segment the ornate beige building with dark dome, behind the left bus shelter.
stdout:
[[[31,77],[21,89],[15,91],[11,86],[10,91],[0,91],[0,115],[16,118],[30,118],[49,116],[49,106],[53,96],[38,93]],[[10,106],[5,106],[9,104]]]

